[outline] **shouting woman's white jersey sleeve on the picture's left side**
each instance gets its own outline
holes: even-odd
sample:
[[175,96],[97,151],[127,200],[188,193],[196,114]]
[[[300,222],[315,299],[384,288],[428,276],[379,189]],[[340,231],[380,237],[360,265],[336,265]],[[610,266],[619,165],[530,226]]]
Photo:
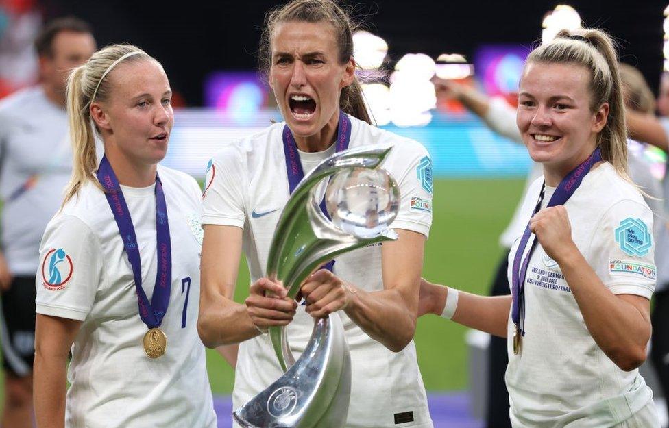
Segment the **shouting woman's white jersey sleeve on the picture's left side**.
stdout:
[[220,151],[207,166],[202,194],[202,225],[244,227],[247,173],[234,145]]

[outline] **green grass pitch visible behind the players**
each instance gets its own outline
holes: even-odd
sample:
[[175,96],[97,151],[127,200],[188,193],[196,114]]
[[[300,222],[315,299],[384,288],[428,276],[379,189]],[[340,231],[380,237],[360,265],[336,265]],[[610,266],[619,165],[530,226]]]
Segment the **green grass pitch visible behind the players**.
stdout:
[[[479,294],[486,294],[502,249],[498,238],[520,199],[521,179],[439,179],[435,181],[433,225],[426,243],[423,276]],[[239,270],[235,300],[248,294],[245,262]],[[465,327],[437,316],[420,318],[415,342],[427,390],[467,387]],[[214,394],[230,394],[232,368],[207,351]]]

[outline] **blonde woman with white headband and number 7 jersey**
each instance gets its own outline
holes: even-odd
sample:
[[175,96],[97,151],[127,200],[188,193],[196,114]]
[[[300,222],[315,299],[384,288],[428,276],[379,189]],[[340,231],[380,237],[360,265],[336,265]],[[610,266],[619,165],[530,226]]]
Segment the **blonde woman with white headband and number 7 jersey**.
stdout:
[[216,426],[196,326],[199,186],[158,166],[171,93],[160,63],[131,45],[69,77],[74,168],[37,274],[38,428]]

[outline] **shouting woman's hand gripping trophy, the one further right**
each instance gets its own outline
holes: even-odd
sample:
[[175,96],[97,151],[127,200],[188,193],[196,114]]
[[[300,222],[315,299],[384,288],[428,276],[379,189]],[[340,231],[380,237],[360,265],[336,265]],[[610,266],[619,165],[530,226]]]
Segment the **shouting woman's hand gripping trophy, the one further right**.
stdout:
[[339,277],[327,269],[317,270],[304,280],[300,294],[306,299],[306,312],[314,318],[325,318],[345,309],[352,292]]

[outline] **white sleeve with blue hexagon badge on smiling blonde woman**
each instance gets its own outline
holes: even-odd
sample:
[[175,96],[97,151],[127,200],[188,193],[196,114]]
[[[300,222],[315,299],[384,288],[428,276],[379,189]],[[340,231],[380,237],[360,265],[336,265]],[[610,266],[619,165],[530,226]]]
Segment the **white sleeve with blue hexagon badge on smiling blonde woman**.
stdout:
[[609,208],[594,231],[590,255],[592,268],[613,294],[650,299],[657,269],[648,206],[627,199]]

